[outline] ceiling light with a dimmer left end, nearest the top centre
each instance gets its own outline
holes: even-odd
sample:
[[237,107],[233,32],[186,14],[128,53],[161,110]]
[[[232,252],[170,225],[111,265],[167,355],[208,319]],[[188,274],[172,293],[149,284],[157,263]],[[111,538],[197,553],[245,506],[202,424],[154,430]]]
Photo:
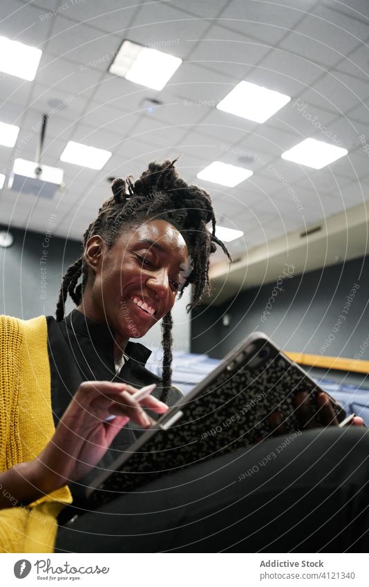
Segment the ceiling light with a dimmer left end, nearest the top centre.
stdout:
[[140,86],[162,90],[181,63],[179,57],[123,41],[108,71]]

